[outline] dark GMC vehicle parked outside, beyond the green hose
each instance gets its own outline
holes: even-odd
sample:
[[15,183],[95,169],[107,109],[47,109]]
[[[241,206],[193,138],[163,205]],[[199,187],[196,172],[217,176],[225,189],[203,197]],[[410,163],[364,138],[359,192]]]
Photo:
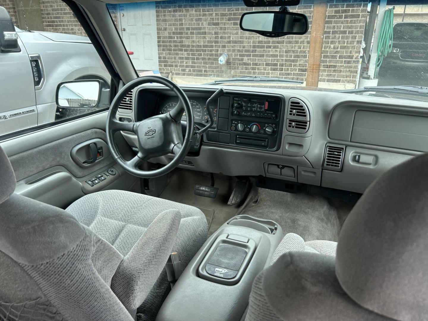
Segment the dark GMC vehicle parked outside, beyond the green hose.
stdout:
[[394,69],[428,72],[428,24],[397,22],[393,30],[392,51],[383,59],[381,72]]

